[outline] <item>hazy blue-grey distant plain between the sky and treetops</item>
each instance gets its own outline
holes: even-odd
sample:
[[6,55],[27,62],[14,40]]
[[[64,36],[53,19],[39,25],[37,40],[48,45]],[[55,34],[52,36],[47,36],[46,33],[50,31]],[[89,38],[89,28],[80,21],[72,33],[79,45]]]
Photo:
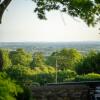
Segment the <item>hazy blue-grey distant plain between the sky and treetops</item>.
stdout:
[[45,55],[63,48],[73,48],[81,52],[89,50],[100,51],[100,41],[75,42],[0,42],[0,48],[17,50],[23,48],[29,52],[43,52]]

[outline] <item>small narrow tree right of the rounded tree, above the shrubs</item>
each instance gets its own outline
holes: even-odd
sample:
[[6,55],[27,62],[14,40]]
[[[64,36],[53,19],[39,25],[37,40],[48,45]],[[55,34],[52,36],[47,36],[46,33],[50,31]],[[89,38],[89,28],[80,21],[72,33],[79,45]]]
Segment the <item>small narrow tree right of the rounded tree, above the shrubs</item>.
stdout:
[[33,61],[31,63],[32,67],[42,67],[44,66],[44,56],[42,54],[42,52],[35,52],[33,54]]

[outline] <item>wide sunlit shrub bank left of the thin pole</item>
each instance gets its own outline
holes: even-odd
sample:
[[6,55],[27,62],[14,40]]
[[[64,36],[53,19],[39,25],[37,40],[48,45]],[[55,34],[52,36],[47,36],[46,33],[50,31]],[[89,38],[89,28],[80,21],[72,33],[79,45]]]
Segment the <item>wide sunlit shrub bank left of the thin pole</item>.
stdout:
[[55,69],[50,66],[45,67],[35,67],[31,69],[30,67],[25,67],[22,65],[14,65],[6,70],[7,74],[11,79],[15,79],[18,84],[27,87],[27,84],[33,84],[37,82],[40,84],[45,84],[48,82],[54,82]]

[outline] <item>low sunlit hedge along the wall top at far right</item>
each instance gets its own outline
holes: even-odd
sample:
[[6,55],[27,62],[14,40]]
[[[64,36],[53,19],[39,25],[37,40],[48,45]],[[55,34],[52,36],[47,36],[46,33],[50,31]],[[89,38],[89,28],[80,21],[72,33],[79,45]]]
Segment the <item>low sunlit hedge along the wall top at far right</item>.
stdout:
[[77,75],[75,81],[100,81],[100,74],[88,73],[84,75]]

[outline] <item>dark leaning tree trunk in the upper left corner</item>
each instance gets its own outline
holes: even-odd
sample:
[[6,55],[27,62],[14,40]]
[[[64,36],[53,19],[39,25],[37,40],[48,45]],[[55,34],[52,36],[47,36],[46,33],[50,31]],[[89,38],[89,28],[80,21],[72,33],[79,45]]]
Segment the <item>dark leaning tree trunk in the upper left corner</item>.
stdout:
[[8,5],[10,4],[12,0],[4,0],[3,2],[1,2],[0,4],[0,24],[2,22],[2,16],[3,13],[5,12],[6,8],[8,7]]

